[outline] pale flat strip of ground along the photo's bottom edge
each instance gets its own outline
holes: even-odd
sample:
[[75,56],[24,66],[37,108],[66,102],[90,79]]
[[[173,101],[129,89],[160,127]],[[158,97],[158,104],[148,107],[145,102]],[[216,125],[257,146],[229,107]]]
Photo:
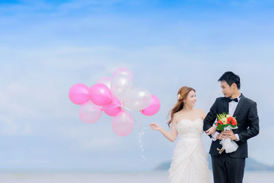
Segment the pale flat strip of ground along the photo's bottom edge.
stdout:
[[[148,173],[0,173],[3,183],[169,183],[167,171]],[[273,182],[273,171],[247,171],[244,182]],[[213,181],[211,181],[213,182]]]

